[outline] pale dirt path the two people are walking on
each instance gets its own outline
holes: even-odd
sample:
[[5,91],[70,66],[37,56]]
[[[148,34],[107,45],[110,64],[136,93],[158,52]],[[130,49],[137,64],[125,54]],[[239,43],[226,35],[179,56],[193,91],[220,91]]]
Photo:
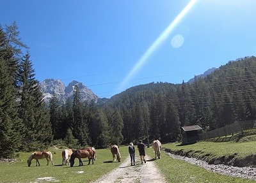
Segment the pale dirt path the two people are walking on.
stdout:
[[154,159],[150,159],[146,156],[147,163],[143,163],[141,165],[139,157],[136,157],[135,166],[131,166],[130,156],[127,156],[124,162],[115,170],[104,175],[98,180],[95,180],[95,183],[106,183],[106,182],[125,182],[125,183],[133,183],[133,182],[157,182],[157,183],[165,183],[165,180],[159,170],[154,165]]

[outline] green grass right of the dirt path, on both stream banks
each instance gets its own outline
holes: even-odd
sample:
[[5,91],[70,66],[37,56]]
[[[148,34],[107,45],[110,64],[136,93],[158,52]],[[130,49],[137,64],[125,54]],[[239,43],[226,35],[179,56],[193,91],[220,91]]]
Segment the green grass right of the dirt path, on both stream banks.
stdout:
[[[256,143],[256,142],[254,142]],[[216,154],[226,154],[226,152],[222,151],[223,147],[226,149],[230,149],[229,145],[234,145],[232,143],[225,143],[221,144],[218,143],[218,145],[214,145],[209,142],[205,143],[195,143],[193,145],[188,145],[188,146],[177,146],[178,143],[175,144],[163,144],[163,147],[173,147],[176,149],[186,149],[186,150],[200,150],[200,149],[205,149],[205,151],[211,152],[213,150],[213,153]],[[242,147],[249,147],[249,144],[239,144]],[[216,146],[219,146],[219,148],[216,148]],[[237,147],[237,146],[236,146]],[[249,149],[241,149],[239,147],[240,151],[236,149],[236,152],[239,152],[239,154],[247,154],[250,152],[253,152],[253,150]],[[219,152],[218,150],[221,150]],[[245,151],[245,152],[244,152]],[[231,150],[230,152],[233,153]],[[254,152],[253,152],[254,153]],[[147,156],[150,157],[155,157],[153,150],[147,149],[146,152]],[[255,180],[249,180],[249,179],[241,179],[237,177],[230,177],[227,175],[220,175],[219,173],[214,173],[208,170],[205,170],[204,168],[201,168],[196,165],[192,165],[190,163],[187,163],[186,161],[182,161],[179,159],[173,159],[172,157],[168,156],[166,153],[161,153],[161,159],[156,159],[154,161],[156,163],[156,166],[159,168],[161,173],[166,179],[166,182],[172,182],[172,183],[178,183],[178,182],[255,182]]]

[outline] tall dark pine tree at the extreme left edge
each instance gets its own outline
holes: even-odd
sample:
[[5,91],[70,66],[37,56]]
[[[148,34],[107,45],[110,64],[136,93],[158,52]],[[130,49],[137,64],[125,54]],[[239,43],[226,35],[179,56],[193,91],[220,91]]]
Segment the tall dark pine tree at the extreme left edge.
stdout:
[[17,89],[13,85],[17,62],[12,50],[6,45],[6,34],[0,25],[0,157],[12,157],[22,143],[23,127],[17,114]]

